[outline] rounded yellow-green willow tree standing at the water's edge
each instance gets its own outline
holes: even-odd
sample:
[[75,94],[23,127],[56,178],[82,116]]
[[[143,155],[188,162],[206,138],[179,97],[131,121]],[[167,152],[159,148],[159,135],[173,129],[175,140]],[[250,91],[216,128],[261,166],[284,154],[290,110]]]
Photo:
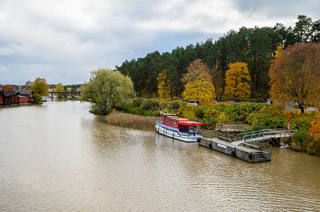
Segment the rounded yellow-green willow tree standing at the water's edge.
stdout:
[[131,78],[111,69],[91,71],[91,80],[82,88],[82,100],[91,101],[96,114],[107,114],[113,108],[123,107],[128,104],[128,97],[134,95]]

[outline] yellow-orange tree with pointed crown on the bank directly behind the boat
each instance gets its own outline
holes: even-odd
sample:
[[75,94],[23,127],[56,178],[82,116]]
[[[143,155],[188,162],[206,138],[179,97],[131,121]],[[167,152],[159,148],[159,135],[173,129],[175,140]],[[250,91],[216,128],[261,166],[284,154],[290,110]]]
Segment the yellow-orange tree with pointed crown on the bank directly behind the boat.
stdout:
[[184,100],[215,100],[216,90],[214,89],[209,69],[202,63],[201,59],[190,63],[188,73],[184,74],[182,81],[186,83],[182,93]]

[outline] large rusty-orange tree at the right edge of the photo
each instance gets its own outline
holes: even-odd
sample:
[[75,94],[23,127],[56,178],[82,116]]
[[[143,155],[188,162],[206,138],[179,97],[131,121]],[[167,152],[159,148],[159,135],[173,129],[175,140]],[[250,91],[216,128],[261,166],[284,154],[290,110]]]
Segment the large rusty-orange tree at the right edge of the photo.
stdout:
[[285,105],[298,104],[301,112],[307,105],[320,102],[320,45],[290,46],[272,61],[269,71],[270,98]]

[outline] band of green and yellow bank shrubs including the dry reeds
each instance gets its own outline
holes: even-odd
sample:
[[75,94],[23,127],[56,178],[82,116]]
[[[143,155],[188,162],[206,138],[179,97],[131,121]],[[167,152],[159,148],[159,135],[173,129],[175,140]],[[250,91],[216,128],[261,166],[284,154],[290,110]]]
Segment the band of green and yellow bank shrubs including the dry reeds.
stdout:
[[289,116],[290,129],[297,129],[294,136],[286,141],[290,149],[320,156],[320,141],[310,134],[319,112],[287,111],[280,106],[265,103],[203,102],[197,106],[180,100],[136,98],[131,100],[130,105],[114,109],[105,117],[105,122],[152,131],[155,130],[155,120],[160,117],[160,112],[175,113],[180,117],[202,122],[204,129],[214,129],[215,124],[248,124],[252,127],[252,131],[287,128]]

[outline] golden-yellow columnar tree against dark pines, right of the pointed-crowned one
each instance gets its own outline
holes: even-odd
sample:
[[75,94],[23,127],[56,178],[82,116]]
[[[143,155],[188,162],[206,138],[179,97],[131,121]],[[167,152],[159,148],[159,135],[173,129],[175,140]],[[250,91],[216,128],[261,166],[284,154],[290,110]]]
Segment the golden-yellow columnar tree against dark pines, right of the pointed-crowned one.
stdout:
[[248,64],[236,62],[229,64],[226,71],[226,89],[224,93],[236,101],[244,101],[250,97],[250,75]]

